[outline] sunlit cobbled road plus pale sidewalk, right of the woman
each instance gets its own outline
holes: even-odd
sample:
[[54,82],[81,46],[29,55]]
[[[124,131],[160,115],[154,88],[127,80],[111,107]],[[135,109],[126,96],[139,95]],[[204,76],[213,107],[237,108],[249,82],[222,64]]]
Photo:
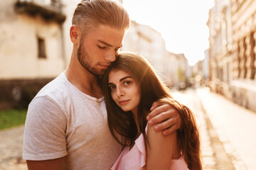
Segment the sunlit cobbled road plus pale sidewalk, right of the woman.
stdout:
[[[215,160],[215,169],[256,169],[256,113],[206,88],[174,92],[173,96],[191,108],[197,117],[204,169],[208,169],[209,158]],[[210,148],[212,157],[208,157]]]

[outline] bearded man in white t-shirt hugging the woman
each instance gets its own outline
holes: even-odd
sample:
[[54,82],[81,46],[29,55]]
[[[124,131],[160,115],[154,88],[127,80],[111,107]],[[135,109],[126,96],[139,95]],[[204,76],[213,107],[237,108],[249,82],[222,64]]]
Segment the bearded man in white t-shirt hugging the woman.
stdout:
[[[78,4],[70,28],[70,64],[28,106],[23,142],[28,169],[110,169],[114,164],[122,147],[108,128],[99,79],[122,47],[129,23],[117,1]],[[179,128],[180,117],[171,106],[157,105],[149,123],[166,120],[155,129],[168,135]]]

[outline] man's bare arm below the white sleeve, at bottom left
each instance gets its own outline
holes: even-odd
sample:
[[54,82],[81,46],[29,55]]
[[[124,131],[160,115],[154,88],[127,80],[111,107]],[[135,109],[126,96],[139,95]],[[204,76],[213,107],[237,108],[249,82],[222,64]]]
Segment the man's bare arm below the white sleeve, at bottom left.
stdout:
[[67,167],[67,156],[58,159],[49,159],[45,161],[27,160],[28,170],[65,170]]

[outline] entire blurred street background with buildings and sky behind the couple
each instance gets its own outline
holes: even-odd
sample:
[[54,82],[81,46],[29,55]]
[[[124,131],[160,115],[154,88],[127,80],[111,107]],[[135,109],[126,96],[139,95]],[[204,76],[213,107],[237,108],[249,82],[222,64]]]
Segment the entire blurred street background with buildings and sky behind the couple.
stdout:
[[[0,1],[0,169],[26,169],[26,109],[68,66],[79,2]],[[122,50],[144,55],[196,114],[204,169],[256,169],[256,1],[120,2],[132,19]]]

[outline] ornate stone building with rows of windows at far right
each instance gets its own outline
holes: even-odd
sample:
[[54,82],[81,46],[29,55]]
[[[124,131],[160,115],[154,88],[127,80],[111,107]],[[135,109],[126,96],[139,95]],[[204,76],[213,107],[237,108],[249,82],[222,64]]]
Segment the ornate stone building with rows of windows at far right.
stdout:
[[256,111],[256,1],[215,0],[208,27],[210,89]]

